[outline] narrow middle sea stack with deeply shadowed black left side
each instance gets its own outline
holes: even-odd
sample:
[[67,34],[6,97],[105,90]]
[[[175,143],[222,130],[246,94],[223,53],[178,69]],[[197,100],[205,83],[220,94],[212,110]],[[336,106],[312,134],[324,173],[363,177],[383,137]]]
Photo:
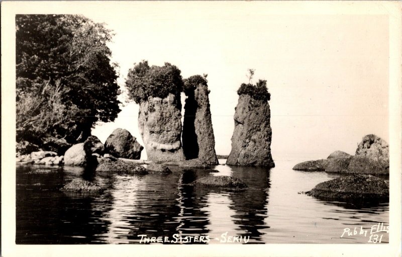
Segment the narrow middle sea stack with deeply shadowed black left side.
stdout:
[[206,78],[194,75],[185,79],[184,93],[187,96],[182,134],[184,156],[218,164]]

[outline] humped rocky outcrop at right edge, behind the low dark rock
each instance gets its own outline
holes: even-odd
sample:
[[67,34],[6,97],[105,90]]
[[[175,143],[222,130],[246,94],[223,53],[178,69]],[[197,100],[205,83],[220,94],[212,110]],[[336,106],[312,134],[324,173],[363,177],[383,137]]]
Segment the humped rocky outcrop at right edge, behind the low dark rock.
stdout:
[[325,171],[329,173],[389,174],[388,144],[375,135],[363,137],[356,155],[342,151],[331,153],[327,159],[310,160],[296,164],[294,170]]

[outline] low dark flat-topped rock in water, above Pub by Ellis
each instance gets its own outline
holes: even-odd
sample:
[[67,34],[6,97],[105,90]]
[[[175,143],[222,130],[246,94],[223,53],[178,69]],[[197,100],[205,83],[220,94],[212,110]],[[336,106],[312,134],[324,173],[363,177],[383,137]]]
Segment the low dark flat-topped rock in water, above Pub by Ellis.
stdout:
[[371,175],[352,175],[320,183],[306,194],[323,200],[387,202],[389,186]]

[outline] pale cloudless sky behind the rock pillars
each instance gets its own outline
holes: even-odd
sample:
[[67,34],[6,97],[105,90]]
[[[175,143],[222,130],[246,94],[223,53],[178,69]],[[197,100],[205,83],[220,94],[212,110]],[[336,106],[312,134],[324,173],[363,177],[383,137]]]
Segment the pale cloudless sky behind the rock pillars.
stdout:
[[[274,159],[354,154],[366,134],[389,142],[387,16],[276,15],[263,3],[222,11],[208,2],[199,12],[153,3],[118,15],[82,14],[114,31],[109,46],[122,87],[141,60],[170,62],[183,78],[208,73],[217,154],[230,153],[236,91],[248,81],[249,68],[255,69],[254,82],[267,80],[271,93]],[[92,134],[105,142],[124,128],[143,145],[137,120],[138,105],[126,103],[115,122],[99,123]]]

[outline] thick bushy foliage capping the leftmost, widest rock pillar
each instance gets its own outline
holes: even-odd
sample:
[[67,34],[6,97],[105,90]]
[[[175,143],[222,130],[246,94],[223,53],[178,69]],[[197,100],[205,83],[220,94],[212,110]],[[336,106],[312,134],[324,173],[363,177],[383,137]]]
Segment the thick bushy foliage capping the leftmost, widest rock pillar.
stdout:
[[169,94],[179,95],[183,88],[181,71],[168,62],[164,66],[149,66],[143,60],[129,70],[126,88],[129,97],[136,103],[146,101],[148,97],[165,98]]

